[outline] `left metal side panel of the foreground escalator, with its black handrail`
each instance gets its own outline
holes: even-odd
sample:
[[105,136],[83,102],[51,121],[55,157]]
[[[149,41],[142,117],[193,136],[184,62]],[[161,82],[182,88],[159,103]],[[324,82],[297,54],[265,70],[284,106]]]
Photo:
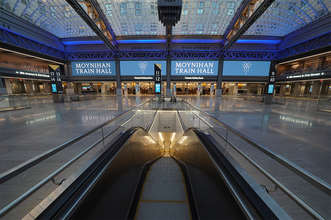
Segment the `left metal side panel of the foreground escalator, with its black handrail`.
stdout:
[[[135,135],[134,135],[135,134]],[[162,147],[146,139],[141,127],[128,129],[71,175],[26,217],[36,219],[124,219],[140,174],[135,154],[158,157]],[[143,146],[136,146],[141,137]],[[132,143],[131,143],[132,141]],[[145,157],[146,158],[146,157]],[[150,158],[152,159],[152,158]],[[137,166],[136,164],[137,163]],[[41,208],[44,207],[44,208]]]

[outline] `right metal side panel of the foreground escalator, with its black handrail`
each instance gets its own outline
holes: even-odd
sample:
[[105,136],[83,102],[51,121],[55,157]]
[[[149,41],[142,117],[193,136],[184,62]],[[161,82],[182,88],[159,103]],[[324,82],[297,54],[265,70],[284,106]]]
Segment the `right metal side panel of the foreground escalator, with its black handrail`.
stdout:
[[[191,139],[186,140],[187,143],[186,136]],[[198,146],[193,147],[190,142],[198,142]],[[257,190],[258,194],[255,190],[260,188],[254,190],[236,170],[238,167],[235,168],[200,129],[189,128],[176,143],[173,155],[184,161],[188,170],[193,170],[190,179],[201,219],[289,217],[266,192]],[[273,203],[268,206],[264,200],[268,202],[269,199]],[[279,206],[279,209],[271,210],[270,204]],[[277,215],[274,210],[278,210]]]

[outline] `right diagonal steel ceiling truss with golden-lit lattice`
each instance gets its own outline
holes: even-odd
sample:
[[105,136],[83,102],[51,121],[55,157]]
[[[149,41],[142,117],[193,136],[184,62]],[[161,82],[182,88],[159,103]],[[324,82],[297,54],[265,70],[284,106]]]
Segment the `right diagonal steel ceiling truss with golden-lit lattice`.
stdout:
[[[261,2],[262,1],[262,2]],[[236,16],[236,22],[231,21],[224,35],[221,53],[224,54],[241,37],[254,22],[265,12],[275,0],[249,0],[241,5],[241,16]],[[260,3],[261,2],[261,3]],[[255,9],[257,4],[259,7]],[[238,13],[239,14],[239,13]]]

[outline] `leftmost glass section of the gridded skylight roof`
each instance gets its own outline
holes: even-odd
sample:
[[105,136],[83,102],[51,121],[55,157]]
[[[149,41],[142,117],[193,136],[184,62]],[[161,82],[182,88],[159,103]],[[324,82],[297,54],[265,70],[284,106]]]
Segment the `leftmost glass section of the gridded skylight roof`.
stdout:
[[0,6],[59,38],[95,35],[64,0],[0,0]]

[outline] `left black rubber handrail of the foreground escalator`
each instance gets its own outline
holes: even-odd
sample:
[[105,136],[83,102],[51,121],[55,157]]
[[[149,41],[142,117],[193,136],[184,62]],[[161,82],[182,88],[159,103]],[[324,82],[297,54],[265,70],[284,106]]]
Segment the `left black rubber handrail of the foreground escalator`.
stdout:
[[[59,214],[59,210],[65,211],[64,206],[69,204],[68,201],[73,201],[73,197],[77,195],[79,191],[83,190],[84,186],[87,187],[88,180],[92,179],[95,175],[100,175],[100,173],[98,173],[98,170],[102,168],[105,162],[113,160],[121,147],[138,130],[144,130],[146,132],[146,130],[140,126],[131,127],[126,130],[120,136],[118,141],[114,141],[114,143],[111,144],[111,146],[109,146],[104,153],[102,153],[94,162],[92,162],[90,166],[88,166],[76,179],[74,179],[73,182],[63,191],[64,193],[60,194],[52,202],[53,205],[44,208],[44,210],[38,215],[36,219],[53,219],[56,215]],[[150,136],[150,138],[152,137]],[[161,151],[163,149],[162,146],[157,141],[155,142],[159,145]],[[75,202],[73,203],[75,204]],[[71,209],[70,207],[68,208]]]

